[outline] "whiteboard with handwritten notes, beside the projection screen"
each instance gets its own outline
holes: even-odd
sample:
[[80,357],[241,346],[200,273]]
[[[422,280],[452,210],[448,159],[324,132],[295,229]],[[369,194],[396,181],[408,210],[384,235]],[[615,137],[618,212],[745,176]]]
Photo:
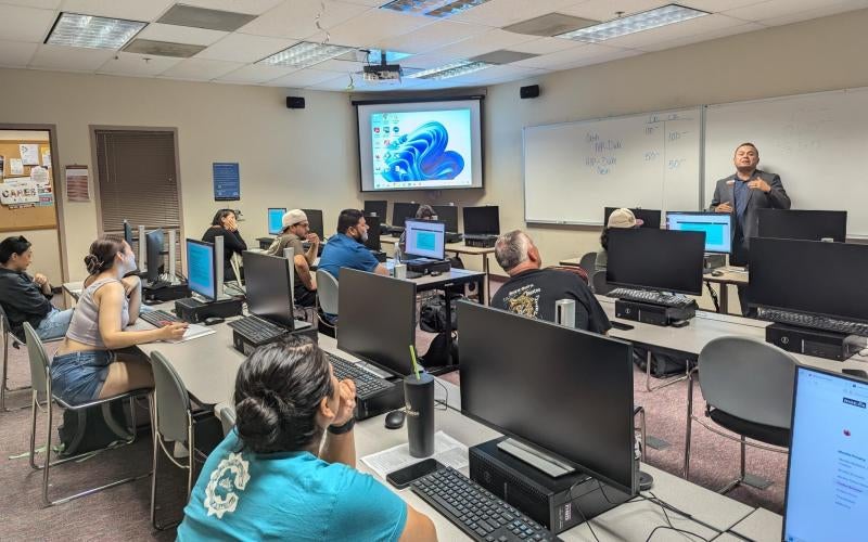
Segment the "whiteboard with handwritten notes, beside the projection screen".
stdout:
[[702,109],[523,129],[526,222],[602,224],[604,207],[700,208]]

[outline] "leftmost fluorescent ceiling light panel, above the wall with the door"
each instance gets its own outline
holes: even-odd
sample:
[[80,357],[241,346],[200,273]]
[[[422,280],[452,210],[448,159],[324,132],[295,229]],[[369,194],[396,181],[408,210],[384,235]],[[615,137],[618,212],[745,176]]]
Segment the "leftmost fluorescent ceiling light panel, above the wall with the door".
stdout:
[[61,13],[46,43],[87,49],[120,49],[146,23],[123,18]]

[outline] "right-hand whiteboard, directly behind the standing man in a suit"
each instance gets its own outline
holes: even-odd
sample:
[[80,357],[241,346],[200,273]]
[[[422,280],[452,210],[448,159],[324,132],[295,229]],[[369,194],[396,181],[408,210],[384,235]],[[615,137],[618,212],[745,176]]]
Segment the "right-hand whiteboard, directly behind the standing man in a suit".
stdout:
[[847,211],[847,236],[868,236],[868,89],[711,105],[705,113],[705,196],[736,172],[736,145],[760,150],[794,209]]

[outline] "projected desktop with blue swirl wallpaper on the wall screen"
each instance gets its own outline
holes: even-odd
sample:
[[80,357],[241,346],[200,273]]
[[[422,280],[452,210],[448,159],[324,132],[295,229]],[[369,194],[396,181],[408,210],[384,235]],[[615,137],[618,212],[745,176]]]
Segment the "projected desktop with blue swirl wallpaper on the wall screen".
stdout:
[[374,113],[374,189],[470,186],[470,109]]

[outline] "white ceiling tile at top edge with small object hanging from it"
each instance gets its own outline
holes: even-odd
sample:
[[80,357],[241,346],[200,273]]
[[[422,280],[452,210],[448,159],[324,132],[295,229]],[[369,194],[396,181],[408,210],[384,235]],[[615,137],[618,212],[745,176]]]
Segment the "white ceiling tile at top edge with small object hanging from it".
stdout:
[[[320,0],[292,0],[280,4],[264,16],[251,21],[239,31],[256,36],[302,40],[319,31],[316,17],[321,11],[322,2]],[[329,29],[366,11],[370,11],[370,8],[330,1],[326,3],[326,11],[322,11],[319,24],[321,28]]]

